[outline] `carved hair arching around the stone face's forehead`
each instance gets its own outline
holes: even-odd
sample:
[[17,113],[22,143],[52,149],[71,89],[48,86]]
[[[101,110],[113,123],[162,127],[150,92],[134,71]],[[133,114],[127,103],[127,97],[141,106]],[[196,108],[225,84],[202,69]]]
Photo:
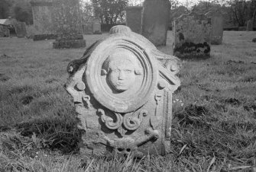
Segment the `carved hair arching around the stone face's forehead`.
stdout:
[[115,65],[116,62],[131,62],[134,65],[134,73],[136,75],[142,74],[142,67],[140,62],[138,61],[137,57],[129,51],[128,49],[115,49],[112,52],[112,55],[108,56],[105,59],[105,62],[102,65],[102,75],[107,75],[110,71],[112,65]]

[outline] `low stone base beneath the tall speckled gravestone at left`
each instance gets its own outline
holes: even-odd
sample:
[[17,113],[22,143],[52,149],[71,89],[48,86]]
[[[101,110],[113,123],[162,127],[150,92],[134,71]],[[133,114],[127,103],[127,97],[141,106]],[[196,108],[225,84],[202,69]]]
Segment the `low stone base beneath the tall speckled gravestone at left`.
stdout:
[[86,40],[60,40],[53,42],[53,49],[72,49],[86,47]]

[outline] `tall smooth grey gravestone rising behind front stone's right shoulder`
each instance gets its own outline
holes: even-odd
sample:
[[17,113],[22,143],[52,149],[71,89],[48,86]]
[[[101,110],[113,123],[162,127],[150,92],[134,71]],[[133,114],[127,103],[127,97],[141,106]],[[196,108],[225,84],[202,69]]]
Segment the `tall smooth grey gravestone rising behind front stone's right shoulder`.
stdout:
[[142,32],[155,46],[165,46],[170,21],[168,0],[145,0],[142,14]]

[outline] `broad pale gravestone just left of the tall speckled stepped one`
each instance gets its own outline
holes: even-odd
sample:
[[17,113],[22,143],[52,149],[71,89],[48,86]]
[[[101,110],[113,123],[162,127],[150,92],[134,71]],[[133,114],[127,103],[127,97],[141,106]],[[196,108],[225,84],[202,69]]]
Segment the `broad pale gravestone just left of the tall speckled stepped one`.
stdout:
[[33,40],[55,39],[53,26],[53,0],[31,0],[33,12]]

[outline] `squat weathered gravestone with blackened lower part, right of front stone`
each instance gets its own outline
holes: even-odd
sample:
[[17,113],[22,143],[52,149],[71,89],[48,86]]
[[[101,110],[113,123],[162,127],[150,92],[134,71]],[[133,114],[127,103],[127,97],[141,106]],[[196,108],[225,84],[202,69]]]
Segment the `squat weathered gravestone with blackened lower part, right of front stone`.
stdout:
[[210,56],[211,19],[204,14],[181,15],[173,21],[173,54],[181,59]]

